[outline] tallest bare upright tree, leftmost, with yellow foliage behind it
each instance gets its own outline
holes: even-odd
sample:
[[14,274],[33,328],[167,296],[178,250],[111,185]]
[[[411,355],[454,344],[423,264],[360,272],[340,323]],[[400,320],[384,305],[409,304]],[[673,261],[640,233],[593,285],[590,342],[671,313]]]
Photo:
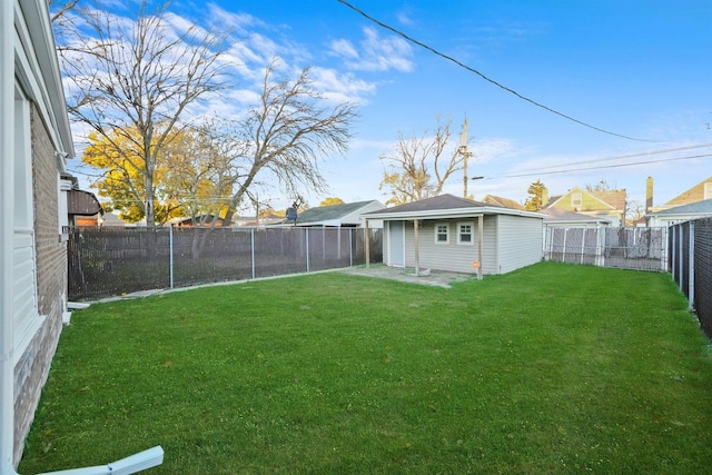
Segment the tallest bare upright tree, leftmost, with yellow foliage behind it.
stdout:
[[59,52],[71,117],[112,147],[113,167],[140,171],[141,186],[129,188],[141,190],[135,198],[154,226],[158,157],[186,108],[225,87],[225,44],[222,34],[195,26],[176,32],[167,7],[149,13],[147,3],[131,22],[100,6],[79,9]]

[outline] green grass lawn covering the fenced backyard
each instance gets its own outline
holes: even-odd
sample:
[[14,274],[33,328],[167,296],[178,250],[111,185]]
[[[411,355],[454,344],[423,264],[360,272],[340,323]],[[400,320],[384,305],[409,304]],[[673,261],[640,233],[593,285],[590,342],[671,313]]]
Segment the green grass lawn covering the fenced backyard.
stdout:
[[712,355],[669,275],[543,263],[451,289],[339,273],[93,305],[21,473],[709,473]]

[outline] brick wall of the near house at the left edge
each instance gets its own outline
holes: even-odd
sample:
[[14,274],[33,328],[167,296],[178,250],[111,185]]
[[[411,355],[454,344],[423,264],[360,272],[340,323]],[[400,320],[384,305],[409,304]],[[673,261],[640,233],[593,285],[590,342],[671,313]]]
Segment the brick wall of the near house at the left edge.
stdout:
[[67,246],[59,239],[58,167],[44,122],[32,105],[32,192],[38,310],[44,321],[14,368],[14,462],[22,456],[40,393],[62,329],[67,289]]

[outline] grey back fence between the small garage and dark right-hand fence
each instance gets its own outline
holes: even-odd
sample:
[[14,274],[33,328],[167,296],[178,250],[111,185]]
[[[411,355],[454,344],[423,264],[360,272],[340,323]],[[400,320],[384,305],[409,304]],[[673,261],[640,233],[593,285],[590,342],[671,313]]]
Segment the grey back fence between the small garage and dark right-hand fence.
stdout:
[[544,229],[544,259],[636,270],[668,270],[668,228]]

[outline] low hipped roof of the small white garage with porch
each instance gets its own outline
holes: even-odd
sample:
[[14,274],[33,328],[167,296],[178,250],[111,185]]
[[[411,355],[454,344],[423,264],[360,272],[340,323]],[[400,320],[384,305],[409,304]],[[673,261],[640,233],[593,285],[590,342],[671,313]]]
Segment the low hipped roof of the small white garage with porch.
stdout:
[[432,219],[432,218],[456,218],[472,215],[515,215],[533,218],[543,218],[544,215],[522,209],[506,208],[504,206],[490,205],[482,201],[474,201],[453,195],[438,195],[433,198],[421,199],[418,201],[406,202],[405,205],[387,208],[380,211],[373,211],[365,215],[368,219]]

